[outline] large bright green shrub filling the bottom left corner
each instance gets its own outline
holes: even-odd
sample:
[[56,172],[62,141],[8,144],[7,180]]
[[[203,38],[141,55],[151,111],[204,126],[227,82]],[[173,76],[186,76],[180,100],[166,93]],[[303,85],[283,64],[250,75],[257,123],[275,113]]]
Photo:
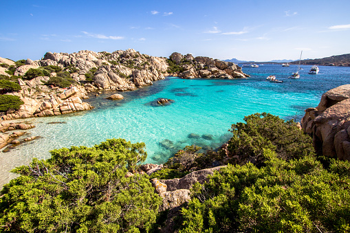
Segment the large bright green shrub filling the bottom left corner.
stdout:
[[122,139],[91,148],[50,151],[15,168],[1,190],[0,231],[144,232],[155,222],[160,197],[147,175],[126,177],[146,152]]

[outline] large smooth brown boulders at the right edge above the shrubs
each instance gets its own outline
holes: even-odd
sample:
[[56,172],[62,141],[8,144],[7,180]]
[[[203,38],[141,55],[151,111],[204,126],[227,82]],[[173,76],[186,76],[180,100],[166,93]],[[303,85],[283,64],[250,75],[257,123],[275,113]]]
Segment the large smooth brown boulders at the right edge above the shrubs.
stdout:
[[350,85],[324,93],[318,107],[305,110],[301,126],[318,154],[350,161]]

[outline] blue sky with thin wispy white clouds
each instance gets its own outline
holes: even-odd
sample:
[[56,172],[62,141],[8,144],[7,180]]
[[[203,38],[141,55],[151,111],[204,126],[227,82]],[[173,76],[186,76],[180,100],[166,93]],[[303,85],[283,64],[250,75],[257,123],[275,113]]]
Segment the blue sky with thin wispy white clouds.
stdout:
[[0,1],[0,56],[172,52],[267,61],[350,53],[350,1]]

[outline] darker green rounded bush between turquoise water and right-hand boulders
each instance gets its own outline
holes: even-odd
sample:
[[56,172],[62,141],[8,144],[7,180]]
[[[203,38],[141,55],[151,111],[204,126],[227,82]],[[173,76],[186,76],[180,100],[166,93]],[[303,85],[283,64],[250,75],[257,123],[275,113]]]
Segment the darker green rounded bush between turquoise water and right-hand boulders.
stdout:
[[263,161],[264,148],[276,151],[283,159],[314,155],[311,137],[298,129],[293,120],[285,122],[270,113],[255,113],[244,121],[232,124],[233,137],[228,142],[228,151],[239,155],[242,162]]

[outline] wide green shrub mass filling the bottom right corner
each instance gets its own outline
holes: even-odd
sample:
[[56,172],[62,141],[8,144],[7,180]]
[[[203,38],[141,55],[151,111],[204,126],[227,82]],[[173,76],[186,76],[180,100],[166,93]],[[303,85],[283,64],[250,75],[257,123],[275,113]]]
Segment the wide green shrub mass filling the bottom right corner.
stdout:
[[312,156],[285,161],[264,150],[265,167],[228,165],[192,190],[180,232],[347,232],[350,163],[325,170]]

